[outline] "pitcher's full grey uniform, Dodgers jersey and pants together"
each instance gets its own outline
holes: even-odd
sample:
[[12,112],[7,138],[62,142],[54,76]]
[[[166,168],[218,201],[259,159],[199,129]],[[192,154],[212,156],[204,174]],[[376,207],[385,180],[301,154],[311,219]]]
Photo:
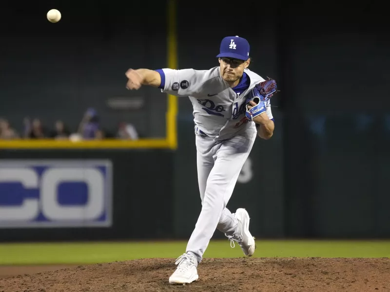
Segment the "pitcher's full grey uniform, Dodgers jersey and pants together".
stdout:
[[[256,124],[245,117],[246,96],[257,95],[254,86],[264,81],[246,69],[239,84],[230,88],[219,67],[210,70],[161,69],[160,89],[188,96],[193,104],[196,165],[202,210],[188,241],[186,253],[202,260],[215,228],[233,236],[237,218],[226,207],[242,166],[257,137]],[[268,102],[266,112],[273,119]]]

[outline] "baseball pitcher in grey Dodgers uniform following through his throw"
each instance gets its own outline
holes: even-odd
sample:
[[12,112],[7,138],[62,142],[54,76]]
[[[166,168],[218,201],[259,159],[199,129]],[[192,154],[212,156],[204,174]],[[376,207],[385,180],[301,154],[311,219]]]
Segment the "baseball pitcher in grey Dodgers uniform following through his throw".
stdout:
[[129,69],[127,89],[149,85],[193,104],[197,174],[202,209],[185,253],[176,260],[171,284],[198,279],[197,265],[217,228],[245,256],[254,254],[249,215],[239,208],[232,214],[226,205],[256,136],[273,135],[269,98],[276,92],[274,80],[265,80],[248,69],[250,46],[242,37],[224,37],[216,57],[219,66],[209,70]]

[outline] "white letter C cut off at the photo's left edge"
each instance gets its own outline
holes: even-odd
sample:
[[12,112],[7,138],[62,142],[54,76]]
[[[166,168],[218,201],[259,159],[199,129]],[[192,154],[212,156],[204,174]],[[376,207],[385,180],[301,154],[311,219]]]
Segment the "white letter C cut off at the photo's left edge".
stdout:
[[[1,168],[0,183],[21,183],[25,189],[37,189],[37,173],[29,168]],[[19,206],[0,207],[0,221],[28,221],[39,215],[38,199],[26,198]]]

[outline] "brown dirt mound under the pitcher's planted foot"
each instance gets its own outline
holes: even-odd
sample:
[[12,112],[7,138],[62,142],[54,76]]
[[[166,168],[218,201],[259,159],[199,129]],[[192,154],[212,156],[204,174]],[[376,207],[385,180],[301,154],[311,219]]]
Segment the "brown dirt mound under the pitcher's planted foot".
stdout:
[[168,283],[175,267],[174,259],[142,259],[20,270],[0,279],[0,292],[390,291],[390,258],[206,258],[199,280],[185,286]]

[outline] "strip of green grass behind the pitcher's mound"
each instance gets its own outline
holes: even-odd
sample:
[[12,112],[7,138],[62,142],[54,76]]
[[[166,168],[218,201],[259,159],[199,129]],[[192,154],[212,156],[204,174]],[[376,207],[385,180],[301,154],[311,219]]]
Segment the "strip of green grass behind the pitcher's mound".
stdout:
[[[186,241],[0,244],[0,265],[91,264],[137,258],[176,258]],[[256,257],[390,257],[390,241],[256,240]],[[242,257],[227,240],[212,240],[207,257]]]

